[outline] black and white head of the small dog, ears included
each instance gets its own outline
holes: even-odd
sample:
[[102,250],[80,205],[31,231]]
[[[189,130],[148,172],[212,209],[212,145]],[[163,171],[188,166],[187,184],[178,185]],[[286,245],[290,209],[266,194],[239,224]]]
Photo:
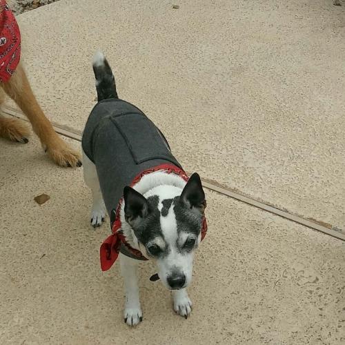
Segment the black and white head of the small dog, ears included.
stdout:
[[188,286],[206,207],[199,175],[193,174],[182,192],[163,185],[141,195],[126,187],[124,201],[133,242],[155,262],[163,284],[169,289]]

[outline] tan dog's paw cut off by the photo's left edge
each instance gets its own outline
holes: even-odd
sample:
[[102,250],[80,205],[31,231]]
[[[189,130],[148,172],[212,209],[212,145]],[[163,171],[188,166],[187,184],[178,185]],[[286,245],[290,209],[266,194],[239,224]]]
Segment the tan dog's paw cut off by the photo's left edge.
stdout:
[[29,135],[29,127],[24,121],[0,117],[0,137],[26,144]]

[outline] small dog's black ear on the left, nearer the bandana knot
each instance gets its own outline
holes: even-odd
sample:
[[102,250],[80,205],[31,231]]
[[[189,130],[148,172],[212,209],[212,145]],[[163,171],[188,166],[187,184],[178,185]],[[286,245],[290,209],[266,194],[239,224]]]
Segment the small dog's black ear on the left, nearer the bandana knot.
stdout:
[[124,188],[125,217],[132,225],[138,217],[144,218],[148,214],[148,201],[137,190],[126,186]]

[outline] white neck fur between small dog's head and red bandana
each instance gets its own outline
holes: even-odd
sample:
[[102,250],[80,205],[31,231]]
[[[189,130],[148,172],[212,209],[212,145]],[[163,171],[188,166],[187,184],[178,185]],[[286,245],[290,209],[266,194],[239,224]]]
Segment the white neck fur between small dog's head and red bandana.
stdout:
[[[186,186],[186,181],[179,175],[175,175],[173,173],[155,171],[141,177],[140,181],[138,181],[137,184],[132,186],[132,188],[134,188],[135,190],[137,190],[137,192],[141,193],[142,195],[144,195],[144,197],[146,197],[147,195],[150,195],[150,191],[152,189],[155,189],[159,186],[166,186],[166,188],[178,188],[181,190],[182,193],[184,186]],[[134,232],[131,226],[126,222],[124,213],[124,202],[121,204],[120,220],[121,230],[126,236],[126,241],[128,242],[128,244],[130,244],[130,246],[132,246],[132,248],[140,250],[139,244],[137,243],[137,241],[135,241]]]

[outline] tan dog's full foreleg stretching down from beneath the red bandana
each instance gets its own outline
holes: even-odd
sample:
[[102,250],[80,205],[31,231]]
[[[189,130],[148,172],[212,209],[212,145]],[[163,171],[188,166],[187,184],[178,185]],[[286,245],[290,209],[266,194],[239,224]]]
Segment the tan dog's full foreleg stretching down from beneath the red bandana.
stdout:
[[[52,124],[41,110],[21,63],[19,63],[11,79],[6,83],[1,83],[1,86],[28,117],[34,132],[38,135],[43,148],[52,160],[59,166],[81,166],[79,154],[57,135]],[[0,124],[0,126],[2,125]]]

